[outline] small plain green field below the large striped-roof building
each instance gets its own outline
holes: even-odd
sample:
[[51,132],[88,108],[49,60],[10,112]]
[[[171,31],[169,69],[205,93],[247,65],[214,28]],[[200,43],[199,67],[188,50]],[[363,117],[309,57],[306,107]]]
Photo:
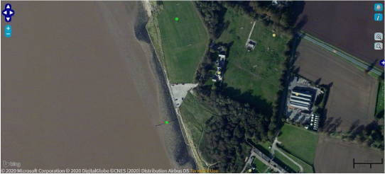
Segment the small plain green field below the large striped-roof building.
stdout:
[[318,134],[306,129],[285,124],[278,136],[282,149],[288,151],[300,160],[313,165],[315,150],[318,144]]

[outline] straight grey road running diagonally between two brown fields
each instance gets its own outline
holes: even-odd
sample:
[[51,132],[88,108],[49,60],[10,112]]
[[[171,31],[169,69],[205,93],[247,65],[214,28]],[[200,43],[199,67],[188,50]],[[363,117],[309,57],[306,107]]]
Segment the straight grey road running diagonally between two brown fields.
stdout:
[[[297,33],[300,37],[304,38],[305,40],[308,40],[309,42],[312,42],[313,44],[315,45],[318,45],[320,47],[323,47],[325,48],[326,50],[329,50],[330,52],[334,52],[335,54],[337,54],[338,56],[342,57],[343,59],[346,59],[346,60],[349,60],[350,62],[353,62],[353,64],[357,64],[358,66],[364,68],[364,69],[369,69],[370,67],[365,65],[365,64],[362,64],[361,62],[358,62],[357,60],[353,59],[352,57],[349,57],[347,54],[344,54],[342,52],[339,52],[337,50],[334,50],[332,47],[329,47],[321,42],[318,42],[317,40],[314,40],[312,39],[311,37],[308,37],[307,35],[303,35],[302,33]],[[379,76],[381,76],[382,72],[380,71],[377,71],[376,69],[371,69],[370,71],[372,71],[374,74],[377,74]]]

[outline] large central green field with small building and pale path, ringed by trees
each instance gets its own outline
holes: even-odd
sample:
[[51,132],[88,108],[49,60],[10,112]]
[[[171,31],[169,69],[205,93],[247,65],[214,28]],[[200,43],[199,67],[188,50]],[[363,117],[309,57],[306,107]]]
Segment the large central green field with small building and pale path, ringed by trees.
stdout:
[[229,62],[224,72],[224,92],[235,100],[249,102],[260,108],[271,108],[271,103],[278,99],[281,88],[279,79],[284,70],[286,43],[290,40],[285,35],[256,22],[251,40],[255,40],[254,51],[244,47],[249,37],[254,20],[239,16],[227,10],[224,23],[229,27],[224,30],[216,42],[232,44],[229,47]]

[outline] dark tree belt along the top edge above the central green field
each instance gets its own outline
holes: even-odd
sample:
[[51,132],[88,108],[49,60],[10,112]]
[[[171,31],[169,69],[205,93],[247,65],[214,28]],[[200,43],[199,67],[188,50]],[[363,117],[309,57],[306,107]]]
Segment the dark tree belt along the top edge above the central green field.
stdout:
[[293,4],[293,0],[286,1],[286,4],[279,8],[271,6],[271,0],[196,0],[195,6],[200,11],[213,39],[217,39],[223,31],[223,17],[227,8],[232,9],[235,13],[263,21],[265,25],[273,25],[288,33],[299,27],[296,25],[298,11],[303,8],[300,1]]

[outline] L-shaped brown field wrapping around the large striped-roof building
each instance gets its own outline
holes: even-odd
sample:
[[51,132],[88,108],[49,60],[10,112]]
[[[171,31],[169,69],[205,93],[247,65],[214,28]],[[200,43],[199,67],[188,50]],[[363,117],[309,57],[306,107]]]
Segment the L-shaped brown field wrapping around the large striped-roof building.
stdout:
[[353,122],[367,125],[374,119],[377,81],[339,57],[302,40],[295,71],[311,81],[330,85],[326,116],[342,120],[337,131],[349,131]]

